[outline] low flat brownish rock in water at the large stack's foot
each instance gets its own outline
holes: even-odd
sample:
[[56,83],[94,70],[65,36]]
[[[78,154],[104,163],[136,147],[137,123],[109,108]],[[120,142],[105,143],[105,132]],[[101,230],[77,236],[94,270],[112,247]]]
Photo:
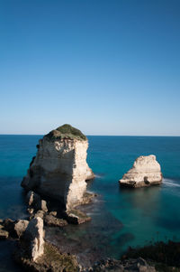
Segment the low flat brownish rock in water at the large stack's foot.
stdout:
[[70,224],[82,224],[90,221],[91,218],[85,214],[83,211],[72,209],[66,213],[67,222]]

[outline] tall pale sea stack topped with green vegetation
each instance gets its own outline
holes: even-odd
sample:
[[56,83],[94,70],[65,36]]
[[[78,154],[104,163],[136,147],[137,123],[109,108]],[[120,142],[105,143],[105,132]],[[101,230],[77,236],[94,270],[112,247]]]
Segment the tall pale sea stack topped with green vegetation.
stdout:
[[23,188],[63,203],[67,211],[81,204],[85,180],[94,178],[86,163],[87,147],[86,136],[75,127],[64,125],[50,131],[37,145]]

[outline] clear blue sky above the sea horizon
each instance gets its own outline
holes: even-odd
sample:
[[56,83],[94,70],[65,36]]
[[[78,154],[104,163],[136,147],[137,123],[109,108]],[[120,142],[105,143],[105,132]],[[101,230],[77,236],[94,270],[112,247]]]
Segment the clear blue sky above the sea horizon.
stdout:
[[179,0],[0,0],[0,134],[180,136]]

